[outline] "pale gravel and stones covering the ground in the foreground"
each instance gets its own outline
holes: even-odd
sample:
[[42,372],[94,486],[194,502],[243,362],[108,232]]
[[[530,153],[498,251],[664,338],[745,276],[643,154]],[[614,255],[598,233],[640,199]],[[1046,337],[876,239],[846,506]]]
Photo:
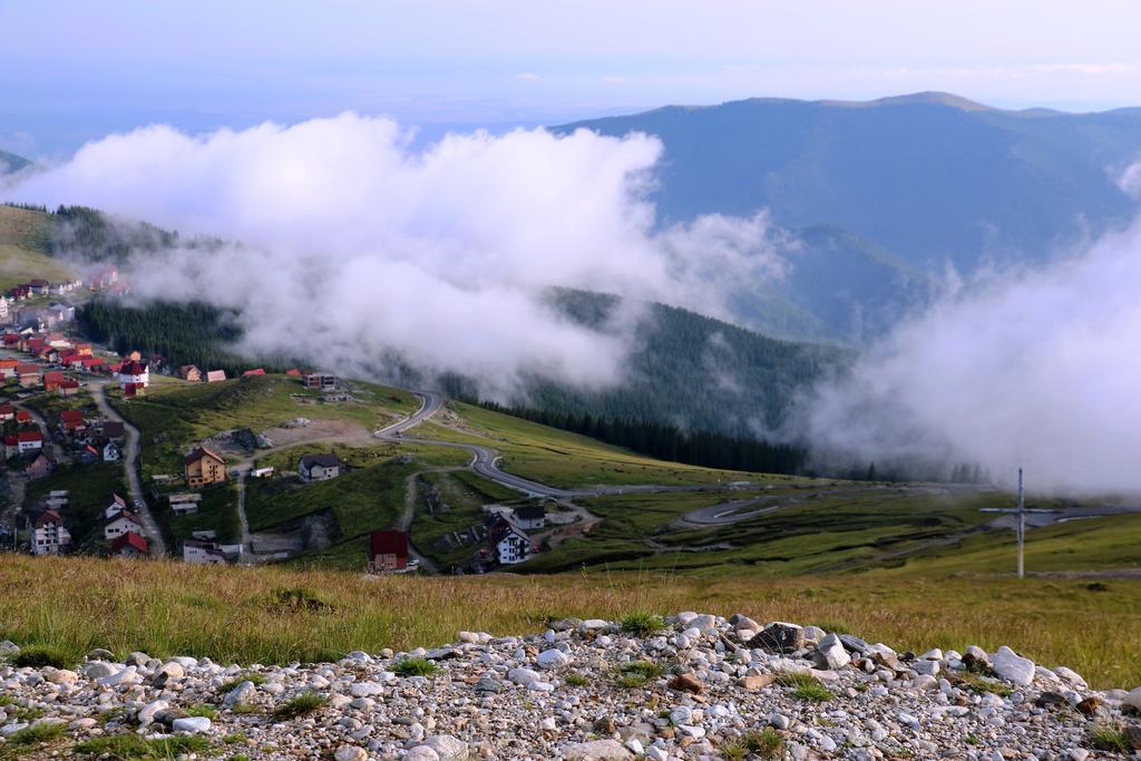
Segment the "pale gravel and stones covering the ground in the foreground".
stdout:
[[143,758],[84,754],[107,738],[187,759],[1141,758],[1141,688],[1091,690],[1009,648],[896,653],[696,613],[641,623],[656,631],[567,620],[290,666],[96,650],[16,667],[2,643],[0,759]]

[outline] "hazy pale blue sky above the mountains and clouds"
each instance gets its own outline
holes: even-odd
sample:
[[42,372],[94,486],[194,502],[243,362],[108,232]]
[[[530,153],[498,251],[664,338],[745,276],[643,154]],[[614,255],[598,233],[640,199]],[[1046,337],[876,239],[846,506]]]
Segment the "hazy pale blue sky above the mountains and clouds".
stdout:
[[1128,0],[0,2],[0,147],[343,110],[428,136],[752,96],[1141,104]]

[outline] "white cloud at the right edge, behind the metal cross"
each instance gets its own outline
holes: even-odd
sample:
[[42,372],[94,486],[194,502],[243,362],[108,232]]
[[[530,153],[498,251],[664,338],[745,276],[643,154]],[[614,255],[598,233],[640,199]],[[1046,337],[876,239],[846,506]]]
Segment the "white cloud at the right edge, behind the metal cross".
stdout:
[[804,405],[810,440],[881,462],[981,462],[1036,488],[1141,491],[1141,221],[1037,272],[992,273]]

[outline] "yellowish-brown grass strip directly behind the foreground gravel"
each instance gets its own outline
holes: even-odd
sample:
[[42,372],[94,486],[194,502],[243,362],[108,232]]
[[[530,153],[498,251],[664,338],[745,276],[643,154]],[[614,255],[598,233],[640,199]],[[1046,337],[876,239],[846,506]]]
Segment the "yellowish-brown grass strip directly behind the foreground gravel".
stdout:
[[[67,583],[59,583],[66,578]],[[272,597],[308,589],[323,612],[284,613]],[[283,568],[0,557],[0,639],[50,645],[79,658],[92,647],[222,663],[338,658],[351,649],[451,641],[460,629],[540,631],[549,617],[618,618],[697,609],[759,621],[815,623],[899,649],[994,649],[1009,643],[1045,665],[1069,665],[1101,687],[1141,682],[1141,651],[1122,632],[1141,628],[1141,582],[871,576],[715,584],[678,575],[378,577]]]

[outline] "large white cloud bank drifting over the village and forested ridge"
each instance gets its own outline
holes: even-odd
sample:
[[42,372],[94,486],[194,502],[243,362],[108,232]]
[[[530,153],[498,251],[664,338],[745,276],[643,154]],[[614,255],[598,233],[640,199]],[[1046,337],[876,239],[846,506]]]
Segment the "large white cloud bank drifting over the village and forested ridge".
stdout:
[[[149,127],[84,146],[14,195],[78,203],[181,233],[241,241],[138,257],[146,297],[242,308],[246,342],[348,371],[388,351],[477,375],[601,386],[621,378],[629,321],[569,324],[552,285],[719,311],[729,268],[775,270],[766,217],[654,230],[661,144],[578,131],[450,135],[423,152],[386,119],[187,136]],[[715,277],[711,276],[714,273]]]

